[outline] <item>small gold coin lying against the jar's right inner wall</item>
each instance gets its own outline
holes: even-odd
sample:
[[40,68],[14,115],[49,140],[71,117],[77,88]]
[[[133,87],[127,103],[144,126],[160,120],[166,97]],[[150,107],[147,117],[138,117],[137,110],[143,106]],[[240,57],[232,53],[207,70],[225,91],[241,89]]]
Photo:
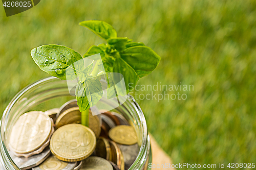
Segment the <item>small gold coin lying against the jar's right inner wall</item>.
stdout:
[[137,143],[137,136],[132,126],[116,126],[110,130],[109,136],[112,140],[120,144],[131,145]]

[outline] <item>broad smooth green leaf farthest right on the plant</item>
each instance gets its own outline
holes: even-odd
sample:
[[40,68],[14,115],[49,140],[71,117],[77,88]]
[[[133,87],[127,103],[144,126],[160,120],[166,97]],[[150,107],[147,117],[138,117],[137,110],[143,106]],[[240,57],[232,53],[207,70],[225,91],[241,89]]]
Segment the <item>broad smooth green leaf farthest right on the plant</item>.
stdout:
[[150,47],[144,45],[126,48],[120,56],[139,78],[150,74],[160,62],[160,57]]

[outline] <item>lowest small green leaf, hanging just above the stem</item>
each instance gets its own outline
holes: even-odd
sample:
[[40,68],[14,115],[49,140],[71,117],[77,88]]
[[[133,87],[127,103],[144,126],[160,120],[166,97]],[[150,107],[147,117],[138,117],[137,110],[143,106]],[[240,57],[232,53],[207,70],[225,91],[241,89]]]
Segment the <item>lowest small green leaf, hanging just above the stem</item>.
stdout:
[[91,77],[83,83],[78,82],[76,86],[76,101],[80,111],[96,105],[102,96],[102,86],[96,77]]

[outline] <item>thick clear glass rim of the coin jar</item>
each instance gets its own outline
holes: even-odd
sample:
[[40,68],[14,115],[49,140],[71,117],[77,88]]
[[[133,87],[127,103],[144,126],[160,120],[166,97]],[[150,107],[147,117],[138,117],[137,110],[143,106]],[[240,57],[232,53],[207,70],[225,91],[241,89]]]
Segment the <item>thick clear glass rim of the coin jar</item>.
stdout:
[[[7,129],[7,118],[10,114],[11,108],[13,107],[13,105],[17,102],[18,99],[22,98],[23,94],[26,93],[28,90],[30,90],[31,88],[38,86],[40,84],[43,84],[45,82],[48,81],[54,81],[54,80],[60,80],[58,78],[55,77],[47,77],[44,79],[40,79],[37,80],[36,82],[26,86],[25,88],[23,88],[22,90],[20,90],[15,96],[14,98],[11,100],[11,102],[8,104],[8,106],[6,107],[6,109],[4,110],[2,119],[0,121],[0,149],[1,149],[1,155],[2,155],[2,159],[1,162],[3,164],[3,166],[5,166],[6,169],[19,169],[19,167],[16,166],[16,164],[13,162],[11,156],[9,155],[9,152],[7,150],[6,147],[6,136],[5,136],[5,132]],[[133,98],[132,95],[127,94],[127,101],[129,102],[129,104],[133,107],[133,109],[136,111],[137,113],[137,118],[140,120],[141,123],[141,133],[142,133],[142,141],[141,141],[141,146],[139,149],[139,153],[137,155],[137,158],[135,160],[135,162],[131,165],[131,167],[129,168],[129,170],[132,169],[138,169],[140,167],[144,166],[145,160],[148,157],[148,153],[150,152],[150,138],[148,136],[148,132],[147,132],[147,125],[146,125],[146,120],[145,120],[145,116],[140,108],[140,106],[138,105],[138,103],[135,101],[135,99]]]

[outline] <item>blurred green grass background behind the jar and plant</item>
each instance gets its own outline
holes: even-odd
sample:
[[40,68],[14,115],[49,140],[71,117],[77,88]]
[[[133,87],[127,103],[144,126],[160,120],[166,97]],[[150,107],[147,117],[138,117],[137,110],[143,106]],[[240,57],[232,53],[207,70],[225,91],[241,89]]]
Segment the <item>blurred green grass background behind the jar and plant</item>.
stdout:
[[180,91],[186,100],[138,100],[174,163],[255,162],[255,9],[247,0],[42,0],[6,17],[0,7],[0,112],[19,90],[48,76],[32,60],[32,48],[61,44],[84,54],[103,41],[78,22],[104,20],[118,36],[144,42],[161,56],[139,84],[194,85],[194,91]]

